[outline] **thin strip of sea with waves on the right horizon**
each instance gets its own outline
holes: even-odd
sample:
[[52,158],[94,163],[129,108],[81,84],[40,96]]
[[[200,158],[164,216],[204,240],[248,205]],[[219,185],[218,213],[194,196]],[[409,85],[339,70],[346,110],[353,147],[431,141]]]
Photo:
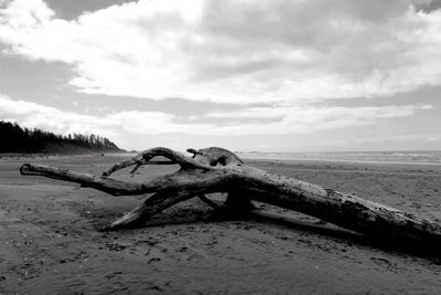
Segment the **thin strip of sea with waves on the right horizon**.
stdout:
[[244,159],[318,160],[441,165],[441,150],[335,151],[335,152],[237,152]]

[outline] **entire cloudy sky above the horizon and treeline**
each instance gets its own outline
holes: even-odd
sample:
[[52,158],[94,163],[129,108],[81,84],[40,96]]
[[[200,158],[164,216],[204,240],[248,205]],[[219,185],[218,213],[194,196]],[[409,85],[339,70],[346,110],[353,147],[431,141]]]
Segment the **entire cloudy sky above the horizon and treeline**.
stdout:
[[0,0],[0,119],[119,147],[441,149],[441,0]]

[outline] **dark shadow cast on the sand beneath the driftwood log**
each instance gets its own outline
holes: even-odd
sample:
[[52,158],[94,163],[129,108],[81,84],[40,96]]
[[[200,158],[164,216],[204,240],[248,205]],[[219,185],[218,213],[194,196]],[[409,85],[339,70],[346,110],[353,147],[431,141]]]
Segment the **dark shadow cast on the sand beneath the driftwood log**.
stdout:
[[[100,217],[103,218],[103,212]],[[266,226],[277,226],[279,229],[283,228],[294,231],[301,231],[310,234],[316,234],[323,238],[331,238],[337,243],[342,242],[346,244],[374,247],[401,256],[413,255],[441,265],[441,247],[439,245],[437,246],[433,244],[422,244],[417,241],[397,241],[388,238],[376,239],[346,229],[342,229],[323,221],[308,222],[262,210],[251,211],[250,214],[238,218],[237,215],[232,217],[218,214],[213,210],[206,210],[205,208],[179,208],[174,209],[172,212],[160,213],[153,217],[143,225],[122,231],[129,234],[136,234],[136,232],[141,229],[157,226],[162,228],[180,224],[219,223],[228,221],[250,222],[251,224],[258,223]],[[95,228],[99,230],[103,225],[103,220],[98,221],[94,219],[93,223],[95,224]]]

